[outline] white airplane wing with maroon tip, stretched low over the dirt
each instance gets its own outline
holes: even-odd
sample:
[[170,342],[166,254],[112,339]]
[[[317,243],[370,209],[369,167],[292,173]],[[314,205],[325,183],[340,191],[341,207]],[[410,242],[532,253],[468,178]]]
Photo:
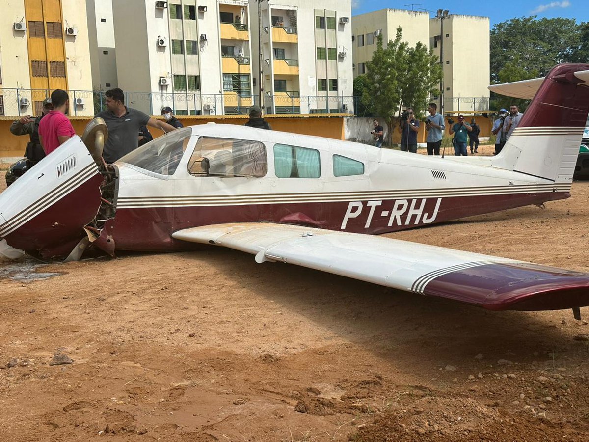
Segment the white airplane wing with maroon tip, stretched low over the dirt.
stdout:
[[[178,230],[173,238],[491,310],[589,305],[589,273],[360,233],[271,223]],[[575,313],[576,315],[576,313]]]

